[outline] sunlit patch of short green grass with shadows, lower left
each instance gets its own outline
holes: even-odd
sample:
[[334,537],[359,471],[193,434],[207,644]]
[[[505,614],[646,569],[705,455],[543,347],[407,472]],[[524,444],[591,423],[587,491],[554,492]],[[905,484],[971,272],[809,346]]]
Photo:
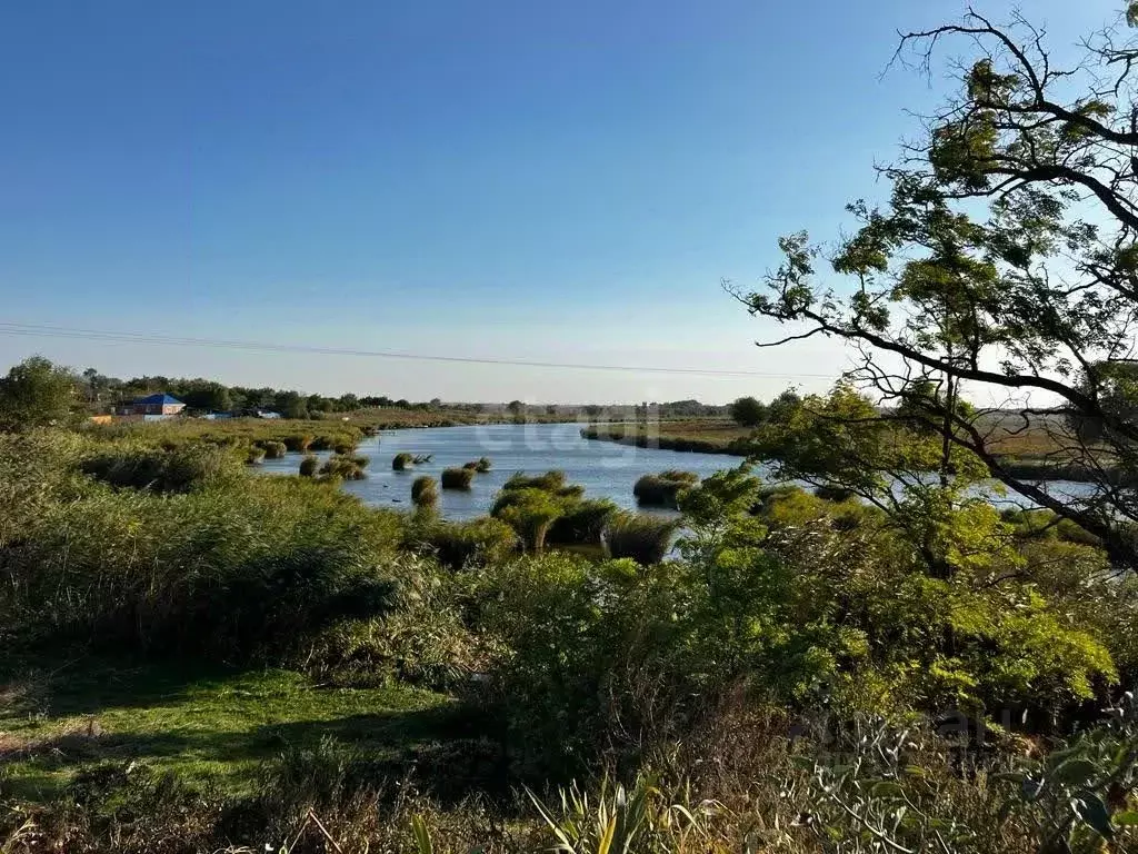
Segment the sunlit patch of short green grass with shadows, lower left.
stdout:
[[413,688],[321,688],[287,671],[81,660],[0,680],[0,783],[49,799],[98,763],[140,762],[240,794],[289,746],[333,736],[397,764],[468,729],[456,701]]

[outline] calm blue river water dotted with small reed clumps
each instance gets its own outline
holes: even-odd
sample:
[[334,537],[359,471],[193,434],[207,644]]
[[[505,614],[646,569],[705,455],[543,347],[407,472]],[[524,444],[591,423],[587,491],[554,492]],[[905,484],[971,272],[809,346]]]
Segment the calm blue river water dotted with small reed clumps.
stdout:
[[[432,458],[413,470],[393,471],[391,458],[401,451],[429,453]],[[580,437],[578,424],[496,424],[386,430],[379,436],[365,438],[358,453],[371,458],[368,478],[345,483],[344,490],[369,504],[395,509],[410,508],[411,482],[419,475],[437,478],[444,468],[461,467],[479,457],[488,457],[494,463],[493,470],[475,475],[470,492],[439,491],[439,509],[450,519],[485,516],[502,484],[518,471],[537,475],[561,469],[569,483],[585,487],[586,498],[607,498],[620,507],[634,509],[633,484],[642,475],[678,468],[707,477],[742,462],[740,457],[661,451],[585,440]],[[296,474],[300,459],[302,454],[290,453],[279,460],[265,460],[261,468]]]

